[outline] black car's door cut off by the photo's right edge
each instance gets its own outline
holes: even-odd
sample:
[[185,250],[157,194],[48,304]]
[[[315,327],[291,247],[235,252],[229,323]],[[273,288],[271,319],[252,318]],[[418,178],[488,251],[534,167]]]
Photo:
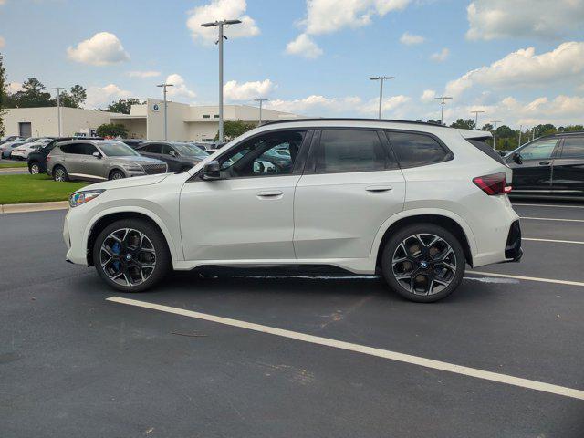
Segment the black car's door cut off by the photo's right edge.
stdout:
[[584,135],[566,136],[553,163],[554,194],[584,194]]

